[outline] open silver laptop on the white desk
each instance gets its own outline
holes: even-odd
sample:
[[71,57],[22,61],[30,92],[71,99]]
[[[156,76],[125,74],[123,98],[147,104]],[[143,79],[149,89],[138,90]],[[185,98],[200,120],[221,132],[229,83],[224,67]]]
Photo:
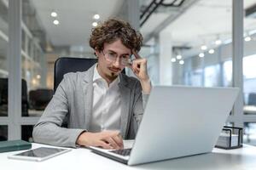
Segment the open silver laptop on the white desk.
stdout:
[[127,165],[211,152],[238,92],[239,88],[154,86],[132,147],[90,149]]

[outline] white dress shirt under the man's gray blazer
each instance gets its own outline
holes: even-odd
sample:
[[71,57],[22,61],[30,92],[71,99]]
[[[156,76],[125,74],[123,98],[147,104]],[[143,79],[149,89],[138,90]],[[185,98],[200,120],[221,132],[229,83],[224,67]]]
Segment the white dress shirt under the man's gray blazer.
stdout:
[[98,73],[93,75],[93,104],[90,132],[120,130],[121,105],[119,77],[109,84]]

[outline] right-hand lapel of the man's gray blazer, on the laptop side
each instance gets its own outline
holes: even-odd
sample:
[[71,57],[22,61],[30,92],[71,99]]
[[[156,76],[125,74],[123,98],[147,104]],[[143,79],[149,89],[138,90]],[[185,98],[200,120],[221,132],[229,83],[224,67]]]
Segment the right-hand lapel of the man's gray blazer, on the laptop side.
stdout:
[[131,102],[131,88],[126,87],[127,82],[124,77],[120,75],[119,90],[121,98],[121,135],[125,139],[127,127],[130,120],[130,102]]

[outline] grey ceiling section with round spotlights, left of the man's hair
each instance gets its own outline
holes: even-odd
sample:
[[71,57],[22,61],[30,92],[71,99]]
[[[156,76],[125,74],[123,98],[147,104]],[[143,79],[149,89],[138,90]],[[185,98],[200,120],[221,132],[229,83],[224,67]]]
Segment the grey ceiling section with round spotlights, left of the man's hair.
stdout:
[[[54,46],[79,46],[88,44],[93,15],[100,20],[115,16],[124,0],[31,0],[36,8],[47,38]],[[60,25],[53,24],[50,13],[55,11]]]

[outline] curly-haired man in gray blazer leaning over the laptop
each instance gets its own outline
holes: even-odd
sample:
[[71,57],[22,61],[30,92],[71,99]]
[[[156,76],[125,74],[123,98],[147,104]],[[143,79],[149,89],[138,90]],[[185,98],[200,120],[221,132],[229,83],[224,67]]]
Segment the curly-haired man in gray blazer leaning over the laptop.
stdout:
[[[98,62],[67,73],[33,130],[35,142],[59,146],[123,148],[134,139],[151,84],[147,60],[137,52],[142,35],[123,20],[107,20],[90,36]],[[131,55],[136,59],[131,61]],[[131,68],[137,78],[121,71]],[[67,117],[67,128],[61,127]]]

